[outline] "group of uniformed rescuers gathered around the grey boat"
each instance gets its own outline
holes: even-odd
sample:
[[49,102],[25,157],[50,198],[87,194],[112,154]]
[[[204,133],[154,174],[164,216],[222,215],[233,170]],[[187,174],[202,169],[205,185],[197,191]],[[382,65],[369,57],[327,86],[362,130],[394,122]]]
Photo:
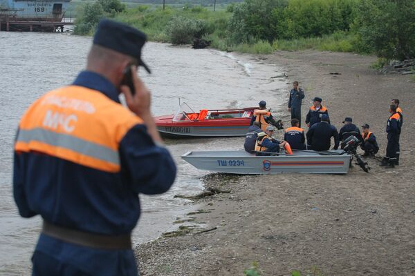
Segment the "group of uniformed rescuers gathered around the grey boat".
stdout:
[[[288,110],[291,111],[291,127],[286,128],[283,141],[273,138],[274,126],[282,129],[281,121],[275,122],[270,110],[266,108],[266,101],[260,101],[259,109],[254,110],[251,126],[246,134],[245,144],[243,145],[245,150],[256,155],[273,155],[274,152],[279,152],[280,148],[285,148],[288,152],[306,149],[329,150],[331,148],[331,137],[334,139],[333,149],[337,150],[341,145],[341,141],[355,136],[360,141],[360,148],[365,151],[363,156],[374,156],[378,152],[379,146],[374,133],[369,129],[369,124],[363,124],[362,133],[360,133],[359,128],[353,124],[353,119],[346,117],[343,121],[344,125],[338,132],[335,126],[330,124],[329,112],[325,106],[322,106],[320,97],[313,99],[313,106],[308,110],[306,115],[308,132],[304,135],[304,130],[301,128],[302,99],[304,99],[304,90],[299,88],[298,81],[294,81],[288,101]],[[390,116],[386,126],[386,157],[382,159],[380,166],[394,168],[394,166],[399,165],[399,136],[403,124],[403,115],[398,99],[392,99],[389,113]]]

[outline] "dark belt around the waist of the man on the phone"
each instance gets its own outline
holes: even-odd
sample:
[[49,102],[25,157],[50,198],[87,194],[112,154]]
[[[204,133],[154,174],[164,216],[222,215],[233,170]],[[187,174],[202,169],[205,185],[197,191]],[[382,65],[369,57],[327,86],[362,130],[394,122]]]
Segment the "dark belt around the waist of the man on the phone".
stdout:
[[64,242],[100,249],[131,249],[131,235],[100,235],[56,226],[44,221],[42,233]]

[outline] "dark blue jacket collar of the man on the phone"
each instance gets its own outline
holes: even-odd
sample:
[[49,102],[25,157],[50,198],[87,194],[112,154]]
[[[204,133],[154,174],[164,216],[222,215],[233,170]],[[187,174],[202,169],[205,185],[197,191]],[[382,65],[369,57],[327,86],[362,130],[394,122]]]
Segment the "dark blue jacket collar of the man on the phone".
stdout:
[[113,85],[113,83],[111,83],[111,81],[109,81],[109,79],[98,73],[92,71],[82,71],[79,75],[77,75],[75,81],[73,81],[73,85],[98,90],[102,92],[102,94],[109,97],[109,99],[120,103],[117,88]]

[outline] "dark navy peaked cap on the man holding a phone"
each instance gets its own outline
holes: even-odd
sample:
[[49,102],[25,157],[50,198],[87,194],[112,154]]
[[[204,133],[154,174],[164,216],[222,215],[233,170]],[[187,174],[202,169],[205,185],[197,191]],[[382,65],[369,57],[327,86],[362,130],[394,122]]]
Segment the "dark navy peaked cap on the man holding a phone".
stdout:
[[102,19],[93,37],[93,43],[136,58],[138,60],[137,65],[144,67],[147,72],[151,73],[148,66],[141,59],[141,48],[144,46],[146,39],[145,33],[136,28],[116,21]]

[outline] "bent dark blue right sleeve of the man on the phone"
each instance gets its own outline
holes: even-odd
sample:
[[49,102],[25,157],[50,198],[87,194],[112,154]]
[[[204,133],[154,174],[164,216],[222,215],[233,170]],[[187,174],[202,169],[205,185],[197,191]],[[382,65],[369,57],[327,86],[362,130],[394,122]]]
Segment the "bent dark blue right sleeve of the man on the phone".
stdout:
[[165,193],[176,177],[176,165],[169,151],[154,144],[145,125],[131,128],[120,142],[123,177],[136,193]]

